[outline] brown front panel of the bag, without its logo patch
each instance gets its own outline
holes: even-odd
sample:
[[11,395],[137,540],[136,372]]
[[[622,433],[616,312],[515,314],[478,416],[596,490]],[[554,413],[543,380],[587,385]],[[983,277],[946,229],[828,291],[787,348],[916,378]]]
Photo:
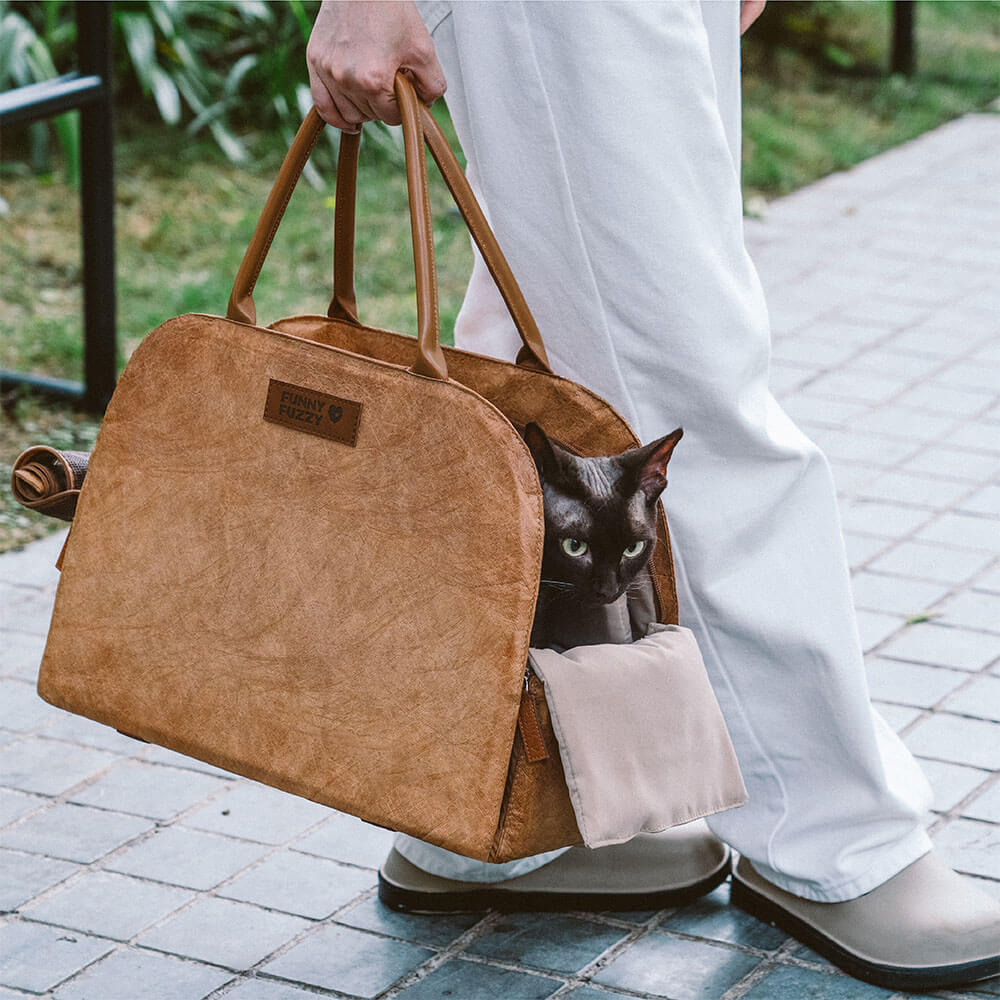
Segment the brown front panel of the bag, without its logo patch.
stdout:
[[[271,379],[359,403],[356,446],[265,421]],[[543,531],[527,449],[465,387],[180,317],[109,407],[39,691],[486,857]]]

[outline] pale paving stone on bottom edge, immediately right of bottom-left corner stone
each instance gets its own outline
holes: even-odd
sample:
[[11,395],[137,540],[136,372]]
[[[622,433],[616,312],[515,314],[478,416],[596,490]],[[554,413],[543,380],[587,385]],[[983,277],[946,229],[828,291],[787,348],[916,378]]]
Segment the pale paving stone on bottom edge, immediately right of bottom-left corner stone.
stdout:
[[129,948],[87,969],[58,990],[54,1000],[136,1000],[138,991],[153,983],[156,1000],[201,1000],[232,978],[223,969]]

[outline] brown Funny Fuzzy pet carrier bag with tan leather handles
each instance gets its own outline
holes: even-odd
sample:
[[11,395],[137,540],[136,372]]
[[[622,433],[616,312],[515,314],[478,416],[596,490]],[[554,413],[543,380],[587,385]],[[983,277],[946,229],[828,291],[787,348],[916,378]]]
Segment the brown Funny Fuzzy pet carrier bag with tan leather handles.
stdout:
[[[397,94],[416,339],[358,319],[347,135],[328,315],[257,325],[253,287],[322,131],[314,110],[227,315],[168,320],[122,373],[38,689],[138,739],[504,861],[582,839],[544,688],[525,681],[544,522],[517,427],[538,421],[581,455],[639,442],[552,373],[446,140],[402,77]],[[425,141],[517,325],[516,364],[440,345]],[[676,622],[662,509],[637,607]],[[734,765],[713,771],[697,747],[691,760],[692,781],[733,788]]]

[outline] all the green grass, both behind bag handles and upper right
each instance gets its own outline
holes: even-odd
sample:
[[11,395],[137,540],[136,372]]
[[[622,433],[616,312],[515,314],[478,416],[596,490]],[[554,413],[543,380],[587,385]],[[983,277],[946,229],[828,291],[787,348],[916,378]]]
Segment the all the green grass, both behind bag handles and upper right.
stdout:
[[[922,0],[917,66],[884,74],[890,5],[772,3],[744,42],[744,188],[769,198],[981,109],[1000,94],[1000,3]],[[825,26],[822,21],[826,19]],[[233,276],[280,162],[276,143],[251,168],[139,121],[116,146],[118,328],[122,362],[164,319],[224,313]],[[4,136],[0,367],[79,378],[80,245],[76,193],[32,176],[18,136]],[[26,156],[23,157],[26,159]],[[415,296],[401,164],[362,151],[357,292],[362,320],[412,331]],[[328,172],[329,173],[329,172]],[[464,225],[432,176],[442,329],[449,331],[471,266]],[[4,209],[6,205],[6,210]],[[331,290],[332,188],[300,183],[255,295],[264,322],[325,312]],[[29,444],[90,447],[96,431],[71,411],[12,396],[0,416],[0,551],[57,527],[16,507],[9,465]]]

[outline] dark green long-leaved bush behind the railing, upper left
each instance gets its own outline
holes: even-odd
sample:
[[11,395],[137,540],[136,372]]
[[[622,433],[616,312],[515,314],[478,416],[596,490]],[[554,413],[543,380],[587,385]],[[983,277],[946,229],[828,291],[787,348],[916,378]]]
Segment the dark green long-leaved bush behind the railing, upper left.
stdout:
[[[209,133],[234,163],[245,162],[261,136],[280,135],[287,145],[312,105],[305,51],[318,8],[318,0],[119,0],[112,6],[116,100],[142,113],[155,108],[191,135]],[[73,68],[69,0],[0,0],[0,24],[0,87]],[[18,67],[16,75],[8,66]],[[367,132],[400,155],[395,131]],[[339,133],[327,135],[335,150]]]

